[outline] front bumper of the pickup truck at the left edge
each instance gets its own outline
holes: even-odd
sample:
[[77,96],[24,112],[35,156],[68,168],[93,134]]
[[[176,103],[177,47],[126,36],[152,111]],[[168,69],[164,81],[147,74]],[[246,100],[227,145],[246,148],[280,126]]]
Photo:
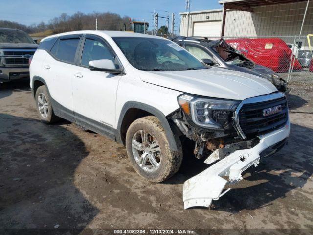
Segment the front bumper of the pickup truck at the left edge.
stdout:
[[29,68],[0,67],[0,82],[29,78]]

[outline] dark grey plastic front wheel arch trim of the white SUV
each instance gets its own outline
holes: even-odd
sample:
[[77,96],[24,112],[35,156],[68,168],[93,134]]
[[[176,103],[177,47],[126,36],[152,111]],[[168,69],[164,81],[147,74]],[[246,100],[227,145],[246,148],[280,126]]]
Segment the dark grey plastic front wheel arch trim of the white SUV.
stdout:
[[149,115],[156,116],[156,118],[160,120],[163,128],[165,129],[165,134],[170,147],[174,151],[178,151],[173,131],[165,115],[153,106],[136,101],[128,101],[124,104],[118,118],[116,140],[125,145],[126,132],[130,124],[138,118]]

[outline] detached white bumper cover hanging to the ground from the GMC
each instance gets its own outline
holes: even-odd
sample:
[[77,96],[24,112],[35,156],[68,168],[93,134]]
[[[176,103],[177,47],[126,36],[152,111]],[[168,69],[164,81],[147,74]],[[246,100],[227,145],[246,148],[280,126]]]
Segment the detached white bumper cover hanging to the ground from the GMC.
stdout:
[[218,200],[227,180],[221,176],[228,176],[229,181],[240,181],[242,172],[251,165],[257,166],[260,153],[268,147],[284,140],[289,136],[290,123],[284,128],[259,136],[260,142],[250,149],[242,149],[233,152],[216,164],[210,166],[200,174],[185,181],[183,187],[183,201],[185,209],[190,207],[209,207],[212,200]]

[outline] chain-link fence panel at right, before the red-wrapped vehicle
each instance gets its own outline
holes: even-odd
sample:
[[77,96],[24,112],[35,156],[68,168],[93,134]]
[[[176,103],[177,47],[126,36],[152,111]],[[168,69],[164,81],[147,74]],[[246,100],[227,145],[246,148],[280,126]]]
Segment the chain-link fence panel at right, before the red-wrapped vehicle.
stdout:
[[227,9],[224,28],[227,43],[250,60],[313,86],[313,1]]

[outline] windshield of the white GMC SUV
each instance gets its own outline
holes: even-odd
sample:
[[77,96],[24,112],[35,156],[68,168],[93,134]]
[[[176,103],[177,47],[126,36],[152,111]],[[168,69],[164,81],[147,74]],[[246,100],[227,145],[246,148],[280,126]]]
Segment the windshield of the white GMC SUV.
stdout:
[[128,61],[139,70],[179,71],[207,69],[185,49],[165,39],[113,37]]

